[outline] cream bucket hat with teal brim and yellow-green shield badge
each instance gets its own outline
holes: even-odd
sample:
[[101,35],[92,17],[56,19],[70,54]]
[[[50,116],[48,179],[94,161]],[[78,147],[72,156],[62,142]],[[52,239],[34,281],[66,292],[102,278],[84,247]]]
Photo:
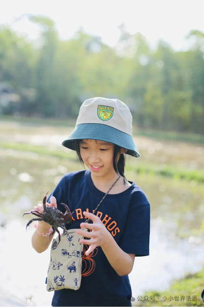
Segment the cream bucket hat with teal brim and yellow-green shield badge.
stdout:
[[82,103],[75,129],[62,142],[76,150],[77,139],[96,139],[114,143],[127,149],[126,154],[140,157],[132,138],[132,114],[118,99],[95,97]]

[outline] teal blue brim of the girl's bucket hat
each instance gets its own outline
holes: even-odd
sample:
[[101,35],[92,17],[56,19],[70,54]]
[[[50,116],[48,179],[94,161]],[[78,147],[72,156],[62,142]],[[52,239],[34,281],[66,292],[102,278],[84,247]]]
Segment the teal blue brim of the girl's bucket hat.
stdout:
[[76,150],[77,139],[97,139],[114,143],[127,149],[126,154],[136,158],[140,157],[140,153],[133,141],[132,136],[107,125],[80,124],[76,126],[67,139],[62,142],[62,145],[66,148]]

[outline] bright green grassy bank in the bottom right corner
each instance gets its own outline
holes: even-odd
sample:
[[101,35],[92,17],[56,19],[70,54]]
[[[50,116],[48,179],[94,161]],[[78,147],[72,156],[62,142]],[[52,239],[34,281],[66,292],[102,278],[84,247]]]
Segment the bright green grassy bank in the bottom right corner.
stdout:
[[167,291],[146,291],[135,298],[132,305],[133,307],[203,307],[204,303],[201,299],[203,289],[204,268],[199,273],[187,274],[184,278],[175,280]]

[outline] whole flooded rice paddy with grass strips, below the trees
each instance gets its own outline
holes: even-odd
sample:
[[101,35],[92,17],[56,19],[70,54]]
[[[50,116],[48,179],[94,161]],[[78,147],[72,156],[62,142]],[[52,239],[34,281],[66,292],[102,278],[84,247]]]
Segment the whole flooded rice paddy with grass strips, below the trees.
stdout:
[[[26,232],[22,215],[64,173],[83,169],[61,146],[73,128],[73,120],[0,117],[2,307],[51,306],[49,251],[32,249],[34,229]],[[203,306],[204,136],[133,131],[141,158],[126,157],[125,175],[149,199],[151,231],[150,255],[137,257],[129,275],[132,306]]]

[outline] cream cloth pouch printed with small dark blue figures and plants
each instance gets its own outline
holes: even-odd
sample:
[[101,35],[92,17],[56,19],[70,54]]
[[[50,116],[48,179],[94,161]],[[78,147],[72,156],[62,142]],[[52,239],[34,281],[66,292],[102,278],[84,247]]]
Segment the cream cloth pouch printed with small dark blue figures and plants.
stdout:
[[[82,228],[87,231],[87,228]],[[84,244],[80,243],[83,236],[76,233],[77,229],[68,230],[67,234],[53,239],[50,263],[46,278],[48,292],[60,289],[78,290],[82,279],[82,258]]]

